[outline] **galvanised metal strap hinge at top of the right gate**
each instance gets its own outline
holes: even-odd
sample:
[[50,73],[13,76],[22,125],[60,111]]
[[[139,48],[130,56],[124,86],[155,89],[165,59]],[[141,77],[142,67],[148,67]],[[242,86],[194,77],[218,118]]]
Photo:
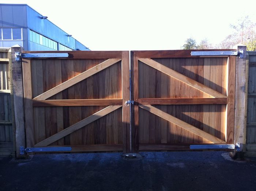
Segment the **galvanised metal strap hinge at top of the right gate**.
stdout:
[[244,58],[244,51],[191,51],[191,56],[237,56]]

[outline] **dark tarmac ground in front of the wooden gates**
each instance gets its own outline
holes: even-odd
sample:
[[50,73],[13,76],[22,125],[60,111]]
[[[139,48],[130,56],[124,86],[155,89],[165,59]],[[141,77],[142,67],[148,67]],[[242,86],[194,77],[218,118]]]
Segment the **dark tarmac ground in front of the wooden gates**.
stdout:
[[256,189],[256,163],[223,152],[47,154],[0,160],[0,190],[246,190]]

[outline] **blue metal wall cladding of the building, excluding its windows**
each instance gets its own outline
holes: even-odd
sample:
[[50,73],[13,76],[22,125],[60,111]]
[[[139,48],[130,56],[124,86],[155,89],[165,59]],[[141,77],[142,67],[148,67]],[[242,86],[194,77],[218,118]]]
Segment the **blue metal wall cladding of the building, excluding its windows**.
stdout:
[[0,46],[5,44],[4,46],[10,47],[20,44],[24,50],[53,50],[30,41],[31,29],[73,50],[90,50],[73,37],[68,37],[68,33],[65,33],[48,19],[42,19],[42,16],[44,15],[39,14],[26,4],[0,4],[0,27],[23,28],[23,41],[1,41]]

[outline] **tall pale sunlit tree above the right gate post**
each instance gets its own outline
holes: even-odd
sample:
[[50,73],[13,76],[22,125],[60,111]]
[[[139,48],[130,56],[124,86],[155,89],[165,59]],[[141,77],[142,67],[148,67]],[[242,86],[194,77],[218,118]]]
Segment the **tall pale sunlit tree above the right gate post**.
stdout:
[[230,49],[234,45],[242,43],[247,46],[247,50],[256,49],[256,23],[252,22],[249,16],[239,19],[236,24],[230,24],[230,27],[233,29],[233,33],[219,44],[219,48]]

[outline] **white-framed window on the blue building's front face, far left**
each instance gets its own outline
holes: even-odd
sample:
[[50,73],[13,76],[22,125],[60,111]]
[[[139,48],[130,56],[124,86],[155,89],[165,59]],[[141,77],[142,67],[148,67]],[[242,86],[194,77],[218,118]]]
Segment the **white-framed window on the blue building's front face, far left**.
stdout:
[[0,40],[22,40],[22,28],[0,28]]

